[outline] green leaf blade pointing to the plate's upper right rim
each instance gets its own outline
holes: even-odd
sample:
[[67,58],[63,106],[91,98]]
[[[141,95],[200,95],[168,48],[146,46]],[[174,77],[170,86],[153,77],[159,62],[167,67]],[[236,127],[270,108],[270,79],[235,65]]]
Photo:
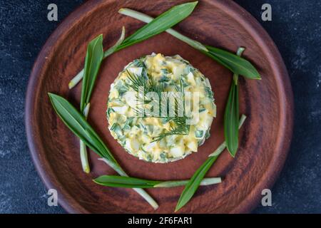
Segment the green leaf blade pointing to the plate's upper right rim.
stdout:
[[261,79],[260,73],[245,58],[212,46],[206,46],[206,48],[209,50],[208,53],[204,52],[206,55],[218,61],[218,63],[230,69],[233,73],[250,79]]

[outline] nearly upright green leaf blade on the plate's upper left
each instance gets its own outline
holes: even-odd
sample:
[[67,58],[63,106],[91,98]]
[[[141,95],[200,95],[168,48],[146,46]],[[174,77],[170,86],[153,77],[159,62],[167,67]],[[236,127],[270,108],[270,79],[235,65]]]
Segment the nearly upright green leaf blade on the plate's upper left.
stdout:
[[94,38],[87,46],[85,67],[83,72],[83,85],[81,87],[81,112],[89,103],[93,86],[103,60],[103,35]]

